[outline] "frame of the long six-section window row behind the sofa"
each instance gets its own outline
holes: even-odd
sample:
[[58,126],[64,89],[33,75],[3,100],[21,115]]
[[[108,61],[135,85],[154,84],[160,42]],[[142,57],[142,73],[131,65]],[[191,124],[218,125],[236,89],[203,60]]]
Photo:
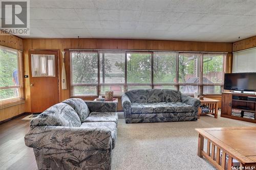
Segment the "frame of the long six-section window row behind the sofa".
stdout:
[[[204,86],[221,86],[221,91],[223,91],[223,80],[222,83],[212,83],[212,84],[203,84],[203,56],[204,55],[222,55],[223,57],[223,63],[222,63],[222,74],[224,78],[224,70],[225,70],[225,58],[227,53],[212,53],[212,52],[177,52],[177,51],[143,51],[143,50],[70,50],[70,71],[71,71],[71,91],[73,88],[72,85],[72,53],[87,53],[87,52],[93,52],[97,53],[98,56],[98,83],[97,84],[87,84],[87,83],[80,83],[78,84],[79,86],[96,86],[97,89],[97,95],[74,95],[71,92],[71,97],[80,97],[80,98],[95,98],[98,97],[98,95],[103,95],[101,93],[101,86],[110,86],[110,85],[117,85],[117,86],[123,86],[123,91],[129,90],[129,86],[150,86],[151,89],[154,89],[155,86],[175,86],[176,90],[180,90],[180,86],[186,86],[186,85],[191,85],[191,86],[198,86],[198,93],[203,94],[203,95],[221,95],[219,93],[203,93],[203,87]],[[124,53],[125,54],[125,60],[124,60],[124,83],[101,83],[100,82],[100,53],[105,52],[105,53]],[[154,52],[163,52],[163,53],[176,53],[176,83],[154,83]],[[151,82],[150,83],[127,83],[127,54],[131,53],[142,53],[142,54],[151,54]],[[198,61],[200,62],[198,65],[198,71],[199,71],[199,83],[179,83],[179,56],[180,54],[196,54],[198,55]],[[120,95],[114,95],[115,97],[120,97]],[[194,95],[191,93],[187,93],[187,95]]]

